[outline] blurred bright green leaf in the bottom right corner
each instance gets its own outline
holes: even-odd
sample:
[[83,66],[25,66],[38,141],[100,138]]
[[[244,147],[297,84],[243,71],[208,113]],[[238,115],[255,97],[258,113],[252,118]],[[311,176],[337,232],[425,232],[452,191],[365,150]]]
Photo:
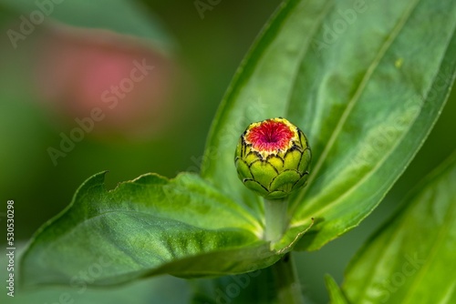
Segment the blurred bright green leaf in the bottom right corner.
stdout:
[[456,151],[352,260],[353,303],[456,303]]

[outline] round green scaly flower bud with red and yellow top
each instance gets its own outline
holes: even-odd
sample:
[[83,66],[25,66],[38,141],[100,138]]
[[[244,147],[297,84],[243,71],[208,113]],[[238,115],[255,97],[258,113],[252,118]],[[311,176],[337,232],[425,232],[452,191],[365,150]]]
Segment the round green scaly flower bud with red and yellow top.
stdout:
[[264,198],[278,199],[304,186],[311,158],[304,133],[279,117],[247,127],[234,162],[246,187]]

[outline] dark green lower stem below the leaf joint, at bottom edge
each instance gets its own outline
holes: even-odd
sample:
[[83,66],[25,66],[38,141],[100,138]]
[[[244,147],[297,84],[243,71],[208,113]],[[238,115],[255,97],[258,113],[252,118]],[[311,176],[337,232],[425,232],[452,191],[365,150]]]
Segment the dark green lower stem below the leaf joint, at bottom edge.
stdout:
[[304,298],[291,252],[286,253],[284,257],[273,265],[273,271],[275,285],[277,286],[278,302],[281,304],[303,304]]

